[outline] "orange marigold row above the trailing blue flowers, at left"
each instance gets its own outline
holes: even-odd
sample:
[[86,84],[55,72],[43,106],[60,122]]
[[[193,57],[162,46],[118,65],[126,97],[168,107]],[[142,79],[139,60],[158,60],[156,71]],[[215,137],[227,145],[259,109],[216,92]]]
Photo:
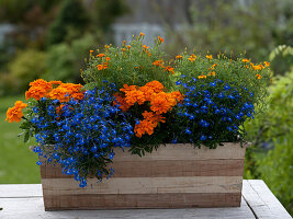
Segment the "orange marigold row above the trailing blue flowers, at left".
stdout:
[[37,79],[30,83],[25,97],[26,100],[35,99],[38,101],[46,96],[52,100],[59,100],[60,102],[67,102],[70,97],[81,100],[83,99],[81,89],[81,84],[63,83],[61,81],[47,82],[43,79]]

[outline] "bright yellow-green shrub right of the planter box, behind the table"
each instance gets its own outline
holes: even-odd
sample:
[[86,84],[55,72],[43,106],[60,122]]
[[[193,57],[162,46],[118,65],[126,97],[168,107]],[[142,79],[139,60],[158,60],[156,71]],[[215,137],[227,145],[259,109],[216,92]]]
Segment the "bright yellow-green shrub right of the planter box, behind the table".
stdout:
[[273,80],[268,108],[246,124],[255,147],[248,151],[248,177],[261,177],[293,214],[293,71]]

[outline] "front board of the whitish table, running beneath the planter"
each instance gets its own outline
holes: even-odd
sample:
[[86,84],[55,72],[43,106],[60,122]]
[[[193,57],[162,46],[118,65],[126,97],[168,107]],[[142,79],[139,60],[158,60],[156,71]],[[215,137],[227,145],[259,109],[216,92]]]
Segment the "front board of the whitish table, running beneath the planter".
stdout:
[[[11,189],[15,187],[11,185]],[[0,185],[1,189],[1,185]],[[1,219],[255,219],[246,201],[239,208],[123,209],[44,211],[43,198],[0,198]]]

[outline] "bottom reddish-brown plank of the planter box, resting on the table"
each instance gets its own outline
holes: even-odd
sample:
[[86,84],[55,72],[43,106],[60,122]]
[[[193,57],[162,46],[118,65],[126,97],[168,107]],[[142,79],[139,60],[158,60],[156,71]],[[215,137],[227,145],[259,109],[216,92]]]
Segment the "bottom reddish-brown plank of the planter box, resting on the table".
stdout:
[[47,195],[46,210],[239,207],[240,193]]

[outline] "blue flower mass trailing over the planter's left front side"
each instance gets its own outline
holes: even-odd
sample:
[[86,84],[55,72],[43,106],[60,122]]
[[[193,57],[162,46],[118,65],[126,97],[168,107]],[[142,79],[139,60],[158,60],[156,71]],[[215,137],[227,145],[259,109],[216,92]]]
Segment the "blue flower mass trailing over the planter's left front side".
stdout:
[[[115,89],[114,84],[110,85]],[[65,174],[80,182],[80,187],[87,185],[88,175],[100,181],[103,176],[109,178],[114,171],[108,168],[115,155],[113,149],[129,147],[134,134],[125,114],[113,101],[105,89],[86,91],[82,101],[71,99],[59,103],[42,99],[40,106],[33,108],[35,116],[31,119],[40,143],[34,152],[48,162],[59,163]]]

